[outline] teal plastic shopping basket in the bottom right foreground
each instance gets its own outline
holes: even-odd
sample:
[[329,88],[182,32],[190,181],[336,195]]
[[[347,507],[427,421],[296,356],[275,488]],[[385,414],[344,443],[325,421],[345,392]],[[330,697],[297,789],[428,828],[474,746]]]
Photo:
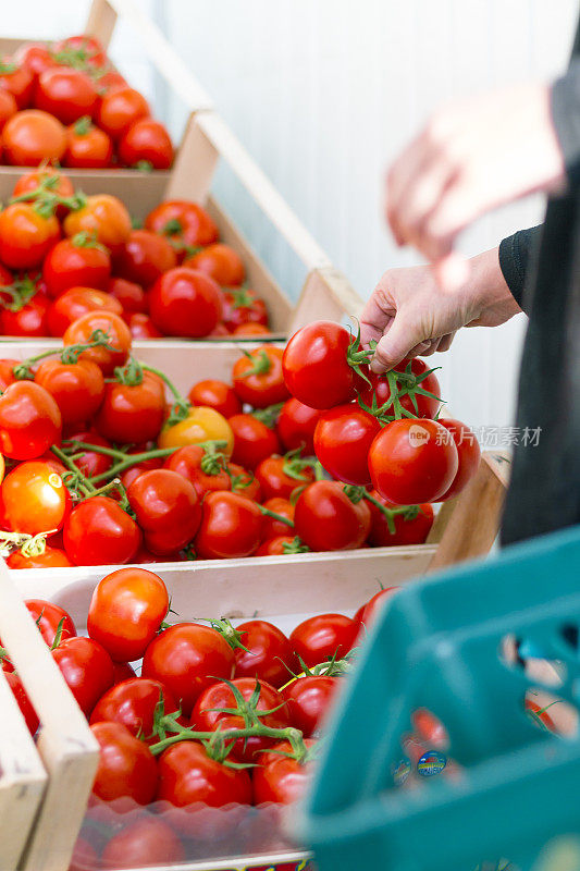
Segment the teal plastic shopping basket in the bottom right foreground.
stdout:
[[[397,593],[362,647],[294,821],[318,871],[527,870],[553,838],[580,833],[580,740],[526,713],[542,683],[504,655],[519,646],[552,660],[562,676],[545,688],[552,713],[559,704],[573,722],[579,625],[576,527]],[[409,739],[420,709],[447,740]],[[434,755],[419,773],[424,749]]]

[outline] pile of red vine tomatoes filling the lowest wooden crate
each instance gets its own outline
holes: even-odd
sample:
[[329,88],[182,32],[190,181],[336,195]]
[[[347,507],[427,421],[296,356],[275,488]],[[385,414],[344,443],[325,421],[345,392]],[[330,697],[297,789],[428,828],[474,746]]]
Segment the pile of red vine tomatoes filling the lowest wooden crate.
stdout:
[[[299,797],[357,638],[395,590],[380,591],[353,619],[313,616],[288,637],[263,619],[168,626],[168,590],[143,568],[99,581],[88,637],[60,606],[26,604],[100,745],[95,801],[188,809],[158,819],[194,835],[200,805]],[[141,659],[137,677],[129,663]],[[2,666],[35,734],[38,719],[5,653]]]

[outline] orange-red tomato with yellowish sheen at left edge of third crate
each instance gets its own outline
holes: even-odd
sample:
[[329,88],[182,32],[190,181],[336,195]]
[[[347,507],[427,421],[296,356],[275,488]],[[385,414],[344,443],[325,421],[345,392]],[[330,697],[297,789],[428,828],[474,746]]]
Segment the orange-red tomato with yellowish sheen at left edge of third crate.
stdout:
[[17,532],[57,531],[71,511],[71,495],[48,463],[30,461],[12,469],[0,488],[4,516]]

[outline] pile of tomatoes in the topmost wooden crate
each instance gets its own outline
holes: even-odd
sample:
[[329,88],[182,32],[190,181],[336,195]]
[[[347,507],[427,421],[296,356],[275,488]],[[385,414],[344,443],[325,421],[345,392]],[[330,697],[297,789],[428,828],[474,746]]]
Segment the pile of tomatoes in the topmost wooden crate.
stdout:
[[143,94],[127,85],[92,36],[52,47],[24,42],[0,60],[4,163],[165,170],[173,145]]

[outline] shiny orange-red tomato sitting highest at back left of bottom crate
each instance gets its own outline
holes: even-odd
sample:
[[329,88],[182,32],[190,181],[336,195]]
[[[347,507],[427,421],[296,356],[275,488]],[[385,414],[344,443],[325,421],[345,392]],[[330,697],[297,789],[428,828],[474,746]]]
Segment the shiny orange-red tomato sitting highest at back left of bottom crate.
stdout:
[[169,610],[169,594],[158,575],[146,568],[120,568],[92,592],[87,629],[115,662],[145,653]]

